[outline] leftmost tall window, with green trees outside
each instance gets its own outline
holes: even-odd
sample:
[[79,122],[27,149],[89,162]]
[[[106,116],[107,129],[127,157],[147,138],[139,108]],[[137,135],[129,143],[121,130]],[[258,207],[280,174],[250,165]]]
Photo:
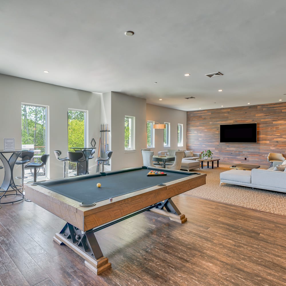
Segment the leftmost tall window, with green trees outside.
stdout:
[[[22,104],[22,147],[34,150],[32,162],[40,162],[43,154],[46,154],[46,130],[47,130],[47,107]],[[25,169],[26,180],[33,180],[33,169]],[[46,178],[45,166],[39,168],[37,179]]]

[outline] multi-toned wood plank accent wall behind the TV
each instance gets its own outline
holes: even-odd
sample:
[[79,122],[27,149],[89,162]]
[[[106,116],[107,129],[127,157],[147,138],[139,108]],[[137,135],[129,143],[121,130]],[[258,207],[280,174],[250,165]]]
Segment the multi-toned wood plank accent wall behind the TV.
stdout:
[[[221,124],[257,122],[257,143],[220,143]],[[269,166],[268,153],[286,158],[286,102],[187,112],[187,150],[210,149],[233,164]],[[245,160],[247,158],[247,160]]]

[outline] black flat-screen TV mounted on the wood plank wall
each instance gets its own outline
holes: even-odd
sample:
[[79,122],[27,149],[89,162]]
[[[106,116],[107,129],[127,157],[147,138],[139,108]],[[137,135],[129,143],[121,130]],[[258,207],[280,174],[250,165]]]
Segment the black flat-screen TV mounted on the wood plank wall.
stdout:
[[221,125],[220,142],[257,143],[257,123]]

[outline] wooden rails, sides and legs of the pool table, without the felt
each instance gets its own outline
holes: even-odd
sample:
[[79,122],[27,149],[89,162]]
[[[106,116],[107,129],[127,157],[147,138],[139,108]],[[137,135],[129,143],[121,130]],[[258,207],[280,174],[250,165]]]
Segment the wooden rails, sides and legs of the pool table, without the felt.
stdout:
[[[87,175],[86,177],[88,176],[92,175]],[[41,185],[26,184],[25,196],[35,204],[67,222],[62,231],[56,233],[53,239],[57,243],[65,244],[73,249],[85,259],[85,265],[90,270],[99,274],[111,267],[111,263],[108,262],[108,258],[103,256],[98,245],[94,235],[96,227],[159,202],[161,202],[161,206],[166,204],[164,206],[166,210],[157,207],[152,208],[152,211],[168,216],[171,220],[184,223],[187,220],[185,215],[179,212],[171,198],[205,183],[206,174],[194,174],[166,182],[165,186],[156,185],[117,196],[112,201],[109,199],[102,200],[91,207],[82,207],[78,201],[53,192]]]

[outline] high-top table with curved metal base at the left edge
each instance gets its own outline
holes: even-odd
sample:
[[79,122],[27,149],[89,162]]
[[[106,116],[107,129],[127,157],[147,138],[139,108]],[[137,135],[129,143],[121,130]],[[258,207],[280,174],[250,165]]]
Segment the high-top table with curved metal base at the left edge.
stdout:
[[[15,149],[15,150],[0,150],[0,159],[3,163],[5,175],[3,182],[0,186],[0,192],[4,190],[3,194],[0,196],[0,204],[9,204],[13,202],[19,202],[25,198],[24,194],[20,191],[21,188],[17,186],[14,182],[13,177],[13,169],[15,166],[15,162],[23,151],[27,151],[27,149]],[[9,159],[5,157],[4,154],[10,154]],[[1,190],[2,189],[2,190]],[[13,192],[11,194],[6,194],[7,192]],[[19,200],[9,201],[9,202],[1,202],[1,198],[3,196],[21,196]]]

